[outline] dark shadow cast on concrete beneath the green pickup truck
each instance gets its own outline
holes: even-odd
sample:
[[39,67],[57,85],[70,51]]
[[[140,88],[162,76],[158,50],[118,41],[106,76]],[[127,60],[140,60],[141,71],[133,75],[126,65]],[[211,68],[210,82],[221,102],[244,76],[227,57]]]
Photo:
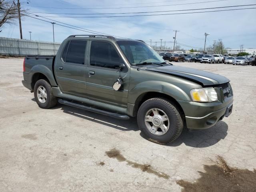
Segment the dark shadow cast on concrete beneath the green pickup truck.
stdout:
[[[32,99],[33,100],[33,99]],[[34,100],[35,101],[35,100]],[[73,116],[83,118],[85,120],[90,120],[91,122],[96,122],[105,126],[109,126],[122,131],[139,131],[136,118],[130,118],[130,120],[120,120],[116,118],[112,118],[109,116],[104,116],[101,114],[96,114],[93,112],[88,112],[85,110],[81,110],[78,108],[61,105],[58,104],[56,107],[51,109],[63,110],[64,113],[71,114]],[[228,125],[224,121],[218,122],[212,128],[204,129],[204,130],[193,130],[188,131],[184,129],[180,137],[166,146],[180,146],[184,143],[186,146],[191,146],[195,148],[205,148],[212,146],[218,143],[220,140],[224,139],[227,136]],[[140,133],[140,136],[143,136]]]

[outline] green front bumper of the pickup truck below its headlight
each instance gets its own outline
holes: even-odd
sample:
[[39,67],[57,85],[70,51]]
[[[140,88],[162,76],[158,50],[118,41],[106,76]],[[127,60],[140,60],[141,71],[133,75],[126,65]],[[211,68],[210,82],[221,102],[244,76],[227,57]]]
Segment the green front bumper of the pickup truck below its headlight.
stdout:
[[184,110],[186,126],[189,129],[207,129],[232,112],[233,96],[220,101],[200,103],[180,101],[178,103]]

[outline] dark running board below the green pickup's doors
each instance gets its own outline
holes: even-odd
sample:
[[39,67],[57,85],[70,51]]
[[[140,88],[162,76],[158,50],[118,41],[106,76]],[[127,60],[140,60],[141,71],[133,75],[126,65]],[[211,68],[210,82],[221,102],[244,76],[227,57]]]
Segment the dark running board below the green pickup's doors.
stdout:
[[117,119],[123,119],[123,120],[130,119],[130,117],[128,115],[120,115],[120,114],[117,114],[117,113],[112,113],[112,112],[108,112],[108,111],[104,111],[104,110],[100,110],[100,109],[95,109],[95,108],[80,105],[80,104],[77,104],[77,103],[72,103],[72,102],[69,102],[69,101],[66,101],[66,100],[63,100],[63,99],[58,99],[58,102],[61,103],[61,104],[64,104],[64,105],[68,105],[68,106],[76,107],[76,108],[83,109],[83,110],[86,110],[86,111],[91,111],[91,112],[94,112],[94,113],[114,117],[114,118],[117,118]]

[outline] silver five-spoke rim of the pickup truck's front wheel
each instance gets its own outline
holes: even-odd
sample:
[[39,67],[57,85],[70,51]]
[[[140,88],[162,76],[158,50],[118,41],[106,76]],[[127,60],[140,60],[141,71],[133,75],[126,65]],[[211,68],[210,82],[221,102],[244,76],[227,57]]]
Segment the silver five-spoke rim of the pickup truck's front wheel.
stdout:
[[145,124],[154,135],[164,135],[169,129],[169,118],[163,110],[152,108],[146,112]]

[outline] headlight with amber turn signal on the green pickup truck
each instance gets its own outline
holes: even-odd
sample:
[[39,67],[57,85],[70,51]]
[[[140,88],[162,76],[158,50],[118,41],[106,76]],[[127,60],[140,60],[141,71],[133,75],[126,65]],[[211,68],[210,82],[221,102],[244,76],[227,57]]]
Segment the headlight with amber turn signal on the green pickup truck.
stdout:
[[190,95],[196,102],[213,102],[218,100],[217,93],[213,87],[192,89]]

